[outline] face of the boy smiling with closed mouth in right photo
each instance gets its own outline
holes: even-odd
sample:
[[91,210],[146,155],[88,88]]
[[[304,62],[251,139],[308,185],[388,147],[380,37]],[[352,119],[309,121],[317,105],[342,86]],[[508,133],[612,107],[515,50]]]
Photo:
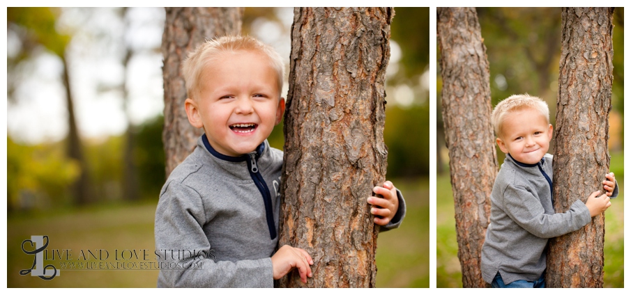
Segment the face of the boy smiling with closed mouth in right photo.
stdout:
[[500,150],[524,164],[536,164],[548,152],[552,124],[534,109],[512,111],[506,115],[497,138]]

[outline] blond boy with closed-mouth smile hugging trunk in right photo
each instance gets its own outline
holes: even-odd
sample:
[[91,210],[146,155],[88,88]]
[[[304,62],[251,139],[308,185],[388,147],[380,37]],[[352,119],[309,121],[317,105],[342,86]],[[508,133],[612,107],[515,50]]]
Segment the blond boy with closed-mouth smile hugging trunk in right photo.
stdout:
[[491,223],[482,246],[482,276],[492,287],[545,287],[547,241],[582,228],[611,206],[618,189],[605,175],[607,193],[595,191],[568,212],[552,207],[552,139],[547,104],[538,97],[512,95],[492,113],[496,143],[506,159],[491,193]]

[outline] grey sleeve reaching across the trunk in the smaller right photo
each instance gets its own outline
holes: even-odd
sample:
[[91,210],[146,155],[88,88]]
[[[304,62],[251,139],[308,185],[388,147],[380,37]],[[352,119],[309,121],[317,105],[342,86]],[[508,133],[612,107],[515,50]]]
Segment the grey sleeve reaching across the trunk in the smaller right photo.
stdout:
[[572,203],[567,212],[545,214],[540,200],[523,186],[509,185],[506,188],[503,207],[515,223],[544,239],[574,232],[591,221],[589,210],[581,200]]

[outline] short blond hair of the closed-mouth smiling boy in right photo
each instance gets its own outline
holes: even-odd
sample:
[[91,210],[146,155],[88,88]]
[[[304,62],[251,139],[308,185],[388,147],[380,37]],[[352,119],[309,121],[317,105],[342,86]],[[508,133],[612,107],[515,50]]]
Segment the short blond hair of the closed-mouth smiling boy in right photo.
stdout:
[[546,104],[542,99],[530,96],[528,93],[510,95],[510,97],[499,102],[499,104],[495,106],[495,109],[493,109],[491,124],[493,125],[496,136],[501,137],[502,125],[508,113],[512,111],[521,111],[527,108],[538,111],[545,118],[546,122],[548,124],[550,123],[550,111],[548,109],[548,104]]

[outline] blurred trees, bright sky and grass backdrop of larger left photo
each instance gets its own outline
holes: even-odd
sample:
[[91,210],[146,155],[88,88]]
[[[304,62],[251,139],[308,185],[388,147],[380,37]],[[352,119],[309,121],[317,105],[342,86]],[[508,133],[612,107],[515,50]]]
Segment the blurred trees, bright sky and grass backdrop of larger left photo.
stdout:
[[[137,280],[117,271],[69,271],[51,281],[17,273],[32,263],[20,248],[31,234],[49,234],[54,248],[153,248],[165,181],[164,18],[163,8],[8,8],[8,287],[155,286],[155,271],[137,272]],[[246,8],[243,33],[287,56],[289,69],[292,21],[292,8]],[[387,177],[402,189],[408,216],[380,239],[377,285],[429,287],[429,8],[395,8],[391,29]],[[66,90],[81,159],[69,152]],[[269,141],[282,149],[282,125]],[[89,202],[78,205],[72,187],[82,173]]]

